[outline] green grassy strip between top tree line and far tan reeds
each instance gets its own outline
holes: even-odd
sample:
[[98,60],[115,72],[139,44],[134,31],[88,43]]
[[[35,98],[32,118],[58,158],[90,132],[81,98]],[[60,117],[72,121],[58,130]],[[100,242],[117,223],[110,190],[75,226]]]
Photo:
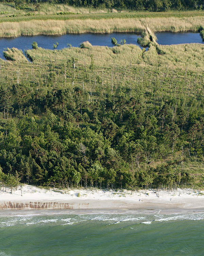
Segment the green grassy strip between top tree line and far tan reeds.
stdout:
[[[63,15],[61,15],[61,14]],[[59,14],[59,15],[57,15]],[[0,22],[20,22],[29,20],[67,20],[67,19],[110,19],[110,18],[156,18],[156,17],[203,17],[203,11],[169,11],[169,12],[148,12],[127,10],[119,11],[110,9],[76,8],[65,4],[41,3],[40,9],[35,11],[32,2],[20,6],[14,10],[13,3],[0,3]]]

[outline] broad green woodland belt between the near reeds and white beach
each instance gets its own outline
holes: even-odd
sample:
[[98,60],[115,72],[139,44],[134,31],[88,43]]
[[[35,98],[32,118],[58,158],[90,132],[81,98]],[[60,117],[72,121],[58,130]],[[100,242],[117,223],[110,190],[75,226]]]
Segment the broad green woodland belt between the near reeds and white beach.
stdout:
[[203,186],[202,72],[139,62],[105,68],[94,55],[87,65],[46,53],[55,59],[22,61],[14,73],[17,62],[2,62],[4,173],[60,187]]

